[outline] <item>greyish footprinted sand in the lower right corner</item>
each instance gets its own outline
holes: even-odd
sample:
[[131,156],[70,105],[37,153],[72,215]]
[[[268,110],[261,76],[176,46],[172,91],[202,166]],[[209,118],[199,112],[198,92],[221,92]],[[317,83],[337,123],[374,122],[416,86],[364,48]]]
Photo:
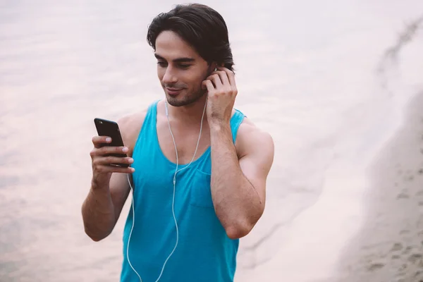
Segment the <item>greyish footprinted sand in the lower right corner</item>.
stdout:
[[366,221],[343,251],[336,281],[423,281],[423,92],[369,178]]

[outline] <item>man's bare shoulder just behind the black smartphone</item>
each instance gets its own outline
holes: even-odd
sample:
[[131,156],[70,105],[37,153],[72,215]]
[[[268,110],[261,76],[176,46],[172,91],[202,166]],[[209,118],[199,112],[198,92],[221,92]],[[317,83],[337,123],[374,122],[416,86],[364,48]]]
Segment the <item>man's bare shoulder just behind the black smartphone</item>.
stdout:
[[121,130],[123,143],[128,147],[130,156],[132,156],[133,148],[137,142],[138,135],[140,135],[146,115],[147,109],[144,109],[140,112],[123,116],[117,121]]

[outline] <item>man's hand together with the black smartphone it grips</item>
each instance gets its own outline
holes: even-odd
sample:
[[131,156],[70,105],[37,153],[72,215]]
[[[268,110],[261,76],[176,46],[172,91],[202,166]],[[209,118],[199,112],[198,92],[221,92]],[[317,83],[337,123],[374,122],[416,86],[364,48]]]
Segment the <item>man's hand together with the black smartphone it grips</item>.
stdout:
[[128,157],[128,147],[123,144],[118,123],[94,118],[98,136],[92,137],[94,148],[90,156],[94,178],[97,174],[133,173],[133,159]]

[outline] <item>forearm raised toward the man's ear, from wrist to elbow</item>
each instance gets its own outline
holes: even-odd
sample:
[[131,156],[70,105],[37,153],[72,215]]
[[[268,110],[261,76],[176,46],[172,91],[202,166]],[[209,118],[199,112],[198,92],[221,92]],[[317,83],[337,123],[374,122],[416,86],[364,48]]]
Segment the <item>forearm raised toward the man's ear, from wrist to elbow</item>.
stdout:
[[250,232],[262,214],[262,203],[241,171],[230,125],[210,128],[212,143],[212,199],[216,215],[231,238]]

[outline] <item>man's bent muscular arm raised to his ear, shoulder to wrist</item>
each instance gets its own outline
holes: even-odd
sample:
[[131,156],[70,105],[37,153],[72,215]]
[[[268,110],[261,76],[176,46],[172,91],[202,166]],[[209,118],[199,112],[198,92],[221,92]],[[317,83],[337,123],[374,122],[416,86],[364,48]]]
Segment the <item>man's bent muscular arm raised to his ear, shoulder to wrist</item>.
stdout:
[[[233,145],[230,125],[210,128],[212,142],[212,199],[216,215],[229,238],[252,230],[264,212],[266,177],[274,158],[270,135],[242,124]],[[239,142],[238,142],[239,140]]]

